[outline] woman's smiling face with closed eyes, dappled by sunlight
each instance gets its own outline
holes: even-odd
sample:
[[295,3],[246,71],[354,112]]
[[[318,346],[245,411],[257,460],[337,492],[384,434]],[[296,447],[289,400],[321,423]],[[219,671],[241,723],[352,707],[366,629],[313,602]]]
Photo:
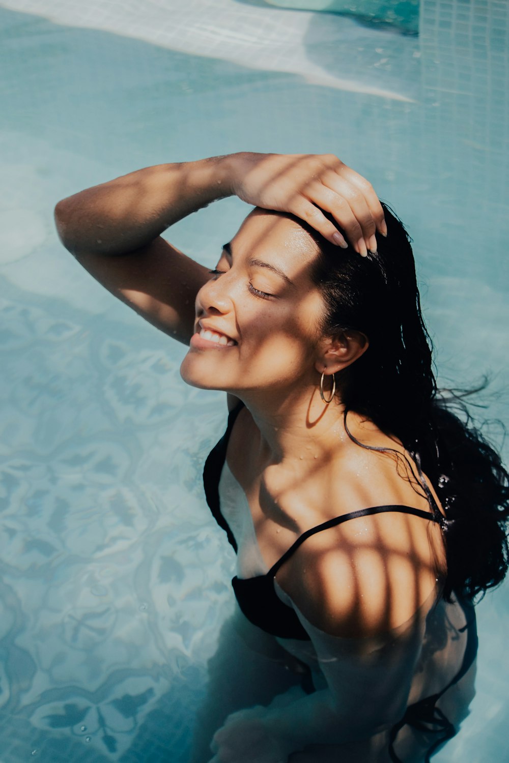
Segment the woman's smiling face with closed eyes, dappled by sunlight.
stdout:
[[324,301],[311,282],[317,244],[295,221],[254,210],[198,291],[182,362],[195,387],[301,391],[315,386]]

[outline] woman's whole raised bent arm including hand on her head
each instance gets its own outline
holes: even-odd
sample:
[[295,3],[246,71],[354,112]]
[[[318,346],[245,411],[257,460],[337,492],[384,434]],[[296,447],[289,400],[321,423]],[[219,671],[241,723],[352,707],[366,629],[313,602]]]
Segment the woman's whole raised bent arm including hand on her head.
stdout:
[[[236,153],[131,172],[56,205],[63,245],[101,284],[170,336],[188,343],[195,296],[208,270],[161,233],[220,198],[301,217],[338,246],[346,233],[361,254],[384,233],[383,212],[365,179],[332,155]],[[324,216],[332,214],[337,227]]]

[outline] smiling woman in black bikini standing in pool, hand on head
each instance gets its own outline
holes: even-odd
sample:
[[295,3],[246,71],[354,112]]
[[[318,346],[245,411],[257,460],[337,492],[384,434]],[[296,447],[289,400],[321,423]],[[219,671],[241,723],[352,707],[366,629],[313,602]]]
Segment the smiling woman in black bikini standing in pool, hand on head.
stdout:
[[[160,238],[233,194],[255,209],[214,271]],[[227,391],[205,492],[258,675],[240,699],[211,661],[193,759],[428,760],[473,696],[472,599],[504,578],[508,488],[437,396],[399,221],[335,156],[240,153],[89,188],[56,222],[95,278],[190,344],[188,384]]]

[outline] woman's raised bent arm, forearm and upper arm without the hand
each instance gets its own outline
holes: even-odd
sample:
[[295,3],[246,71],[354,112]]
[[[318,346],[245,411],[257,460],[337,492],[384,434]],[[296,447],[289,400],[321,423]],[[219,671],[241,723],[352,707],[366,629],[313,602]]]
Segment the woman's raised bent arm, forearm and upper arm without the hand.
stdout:
[[229,177],[228,157],[140,169],[60,201],[56,227],[63,245],[98,282],[188,343],[195,296],[208,270],[160,234],[230,195]]

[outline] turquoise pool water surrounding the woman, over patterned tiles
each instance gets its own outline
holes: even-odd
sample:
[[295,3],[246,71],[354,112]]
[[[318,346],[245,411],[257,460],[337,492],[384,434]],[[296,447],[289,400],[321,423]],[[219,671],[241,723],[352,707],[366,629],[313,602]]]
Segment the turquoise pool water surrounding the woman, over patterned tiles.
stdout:
[[[200,482],[224,400],[62,249],[56,200],[154,163],[333,151],[414,237],[440,380],[491,372],[478,414],[509,420],[507,4],[424,0],[418,36],[183,5],[0,2],[2,763],[186,761],[232,608]],[[213,265],[245,212],[172,240]],[[439,763],[509,755],[507,590],[478,607],[477,696]]]

